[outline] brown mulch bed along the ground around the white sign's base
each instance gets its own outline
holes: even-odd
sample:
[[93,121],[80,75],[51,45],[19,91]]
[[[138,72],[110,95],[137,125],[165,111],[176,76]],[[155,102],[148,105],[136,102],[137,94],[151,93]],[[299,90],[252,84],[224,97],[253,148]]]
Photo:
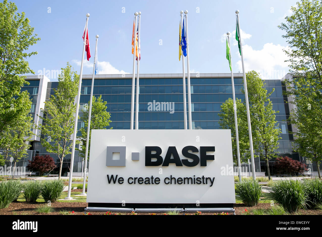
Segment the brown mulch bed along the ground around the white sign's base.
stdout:
[[[74,189],[76,190],[76,189]],[[75,191],[80,192],[80,191]],[[75,215],[82,215],[84,213],[84,209],[88,206],[87,202],[53,202],[52,207],[55,209],[54,212],[50,213],[43,213],[39,214],[34,209],[37,207],[41,207],[42,205],[45,205],[45,203],[31,203],[31,202],[12,202],[8,208],[0,209],[0,215],[60,215],[60,211],[74,211]],[[243,211],[245,211],[245,208],[247,211],[251,211],[252,209],[270,209],[270,203],[259,203],[254,207],[246,207],[244,204],[235,204],[234,205],[236,215],[242,214]],[[303,215],[322,215],[321,210],[300,210],[300,212]],[[104,212],[91,212],[93,215],[102,215],[105,214]],[[118,214],[118,213],[111,213]],[[126,215],[130,215],[131,213],[124,213]],[[164,215],[164,213],[155,213],[156,215]],[[194,214],[194,213],[189,213]],[[232,213],[228,213],[229,215],[232,215]],[[151,215],[151,213],[137,213],[137,215]],[[213,215],[213,213],[201,213],[201,215]]]

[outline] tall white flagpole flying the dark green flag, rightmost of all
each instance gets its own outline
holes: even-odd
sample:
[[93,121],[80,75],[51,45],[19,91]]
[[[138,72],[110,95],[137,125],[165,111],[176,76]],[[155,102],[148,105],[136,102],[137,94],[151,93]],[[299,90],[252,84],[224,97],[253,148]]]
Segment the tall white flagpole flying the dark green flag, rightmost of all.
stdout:
[[251,169],[252,169],[252,174],[253,174],[253,179],[256,179],[256,174],[255,174],[255,161],[254,161],[254,149],[253,149],[253,138],[251,135],[251,115],[249,113],[249,102],[248,102],[248,92],[247,92],[247,82],[246,82],[246,73],[245,73],[245,67],[244,67],[244,57],[242,53],[242,38],[240,35],[241,28],[239,24],[239,16],[238,13],[239,11],[235,11],[236,16],[237,16],[237,25],[238,25],[238,37],[239,37],[239,43],[241,46],[241,54],[242,54],[242,73],[243,73],[243,78],[244,78],[244,90],[245,90],[245,101],[246,101],[246,111],[247,111],[247,122],[248,122],[248,133],[249,133],[249,146],[251,150]]

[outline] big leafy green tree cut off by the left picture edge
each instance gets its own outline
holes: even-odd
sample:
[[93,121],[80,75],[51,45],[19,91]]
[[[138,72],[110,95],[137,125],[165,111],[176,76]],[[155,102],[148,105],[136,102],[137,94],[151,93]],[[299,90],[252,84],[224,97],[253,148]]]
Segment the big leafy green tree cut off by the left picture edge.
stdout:
[[[37,52],[28,51],[29,46],[40,38],[33,35],[24,12],[17,13],[17,6],[7,0],[0,3],[0,147],[5,148],[10,141],[6,135],[10,128],[20,123],[21,114],[29,103],[24,100],[27,92],[21,92],[26,83],[22,74],[33,73],[25,58]],[[28,83],[26,83],[28,84]],[[16,97],[16,95],[20,95]],[[0,163],[3,163],[3,155]]]

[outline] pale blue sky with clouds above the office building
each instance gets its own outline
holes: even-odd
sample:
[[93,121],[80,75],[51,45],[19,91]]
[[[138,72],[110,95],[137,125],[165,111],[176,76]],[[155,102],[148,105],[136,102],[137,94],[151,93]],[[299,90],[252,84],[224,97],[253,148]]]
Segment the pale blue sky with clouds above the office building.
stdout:
[[[83,74],[91,74],[95,35],[99,35],[99,74],[132,73],[131,37],[134,12],[141,11],[142,73],[182,73],[178,60],[179,11],[188,10],[190,72],[230,73],[225,56],[225,33],[235,33],[235,10],[240,11],[246,71],[257,70],[264,79],[288,73],[282,49],[287,47],[277,26],[291,15],[294,0],[270,1],[14,1],[25,12],[41,40],[31,50],[30,67],[58,70],[70,62],[80,71],[82,33],[89,17],[92,57]],[[122,9],[125,13],[122,13]],[[50,11],[50,13],[48,13]],[[198,12],[199,11],[199,12]],[[231,35],[233,71],[242,72],[236,40]],[[162,40],[162,45],[159,44]],[[51,78],[53,80],[54,78]]]

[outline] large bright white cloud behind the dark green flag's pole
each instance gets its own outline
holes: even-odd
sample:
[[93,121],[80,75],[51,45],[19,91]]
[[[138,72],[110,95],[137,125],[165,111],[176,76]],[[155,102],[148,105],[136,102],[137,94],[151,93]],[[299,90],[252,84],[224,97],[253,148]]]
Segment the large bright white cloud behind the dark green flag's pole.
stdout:
[[[249,45],[243,45],[245,71],[255,70],[262,79],[281,79],[289,71],[287,56],[283,49],[286,47],[273,43],[264,44],[261,50],[254,50]],[[288,48],[288,47],[287,47]],[[236,55],[240,55],[236,52]],[[237,62],[237,70],[242,72],[242,61]]]

